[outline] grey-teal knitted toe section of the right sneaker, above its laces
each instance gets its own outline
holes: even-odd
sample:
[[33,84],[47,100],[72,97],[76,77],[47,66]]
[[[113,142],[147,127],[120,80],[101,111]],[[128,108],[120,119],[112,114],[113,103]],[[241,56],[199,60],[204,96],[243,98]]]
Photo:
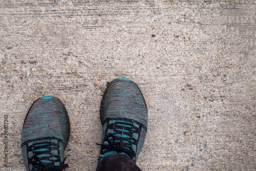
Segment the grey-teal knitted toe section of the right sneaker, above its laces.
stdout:
[[147,108],[144,97],[135,82],[118,78],[113,80],[101,100],[100,119],[127,118],[147,126]]

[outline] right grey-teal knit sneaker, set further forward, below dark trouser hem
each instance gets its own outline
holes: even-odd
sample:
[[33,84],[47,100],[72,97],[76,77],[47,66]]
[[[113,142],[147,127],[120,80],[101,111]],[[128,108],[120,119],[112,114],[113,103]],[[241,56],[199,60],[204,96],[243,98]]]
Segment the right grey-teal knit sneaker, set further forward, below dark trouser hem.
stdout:
[[102,97],[100,120],[103,136],[98,159],[125,154],[135,163],[147,132],[147,107],[137,84],[129,79],[113,80]]

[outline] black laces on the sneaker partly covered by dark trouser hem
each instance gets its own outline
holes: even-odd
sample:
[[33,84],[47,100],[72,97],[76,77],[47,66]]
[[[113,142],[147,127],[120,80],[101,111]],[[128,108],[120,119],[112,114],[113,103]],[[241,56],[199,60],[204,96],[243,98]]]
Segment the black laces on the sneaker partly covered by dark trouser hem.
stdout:
[[[133,133],[138,133],[139,128],[130,123],[115,122],[110,124],[108,129],[113,129],[113,134],[106,135],[103,144],[97,144],[101,145],[101,154],[116,151],[117,153],[124,152],[131,158],[136,157],[132,147],[132,144],[136,145]],[[126,136],[123,137],[123,135]],[[108,144],[104,144],[105,141],[108,141]]]

